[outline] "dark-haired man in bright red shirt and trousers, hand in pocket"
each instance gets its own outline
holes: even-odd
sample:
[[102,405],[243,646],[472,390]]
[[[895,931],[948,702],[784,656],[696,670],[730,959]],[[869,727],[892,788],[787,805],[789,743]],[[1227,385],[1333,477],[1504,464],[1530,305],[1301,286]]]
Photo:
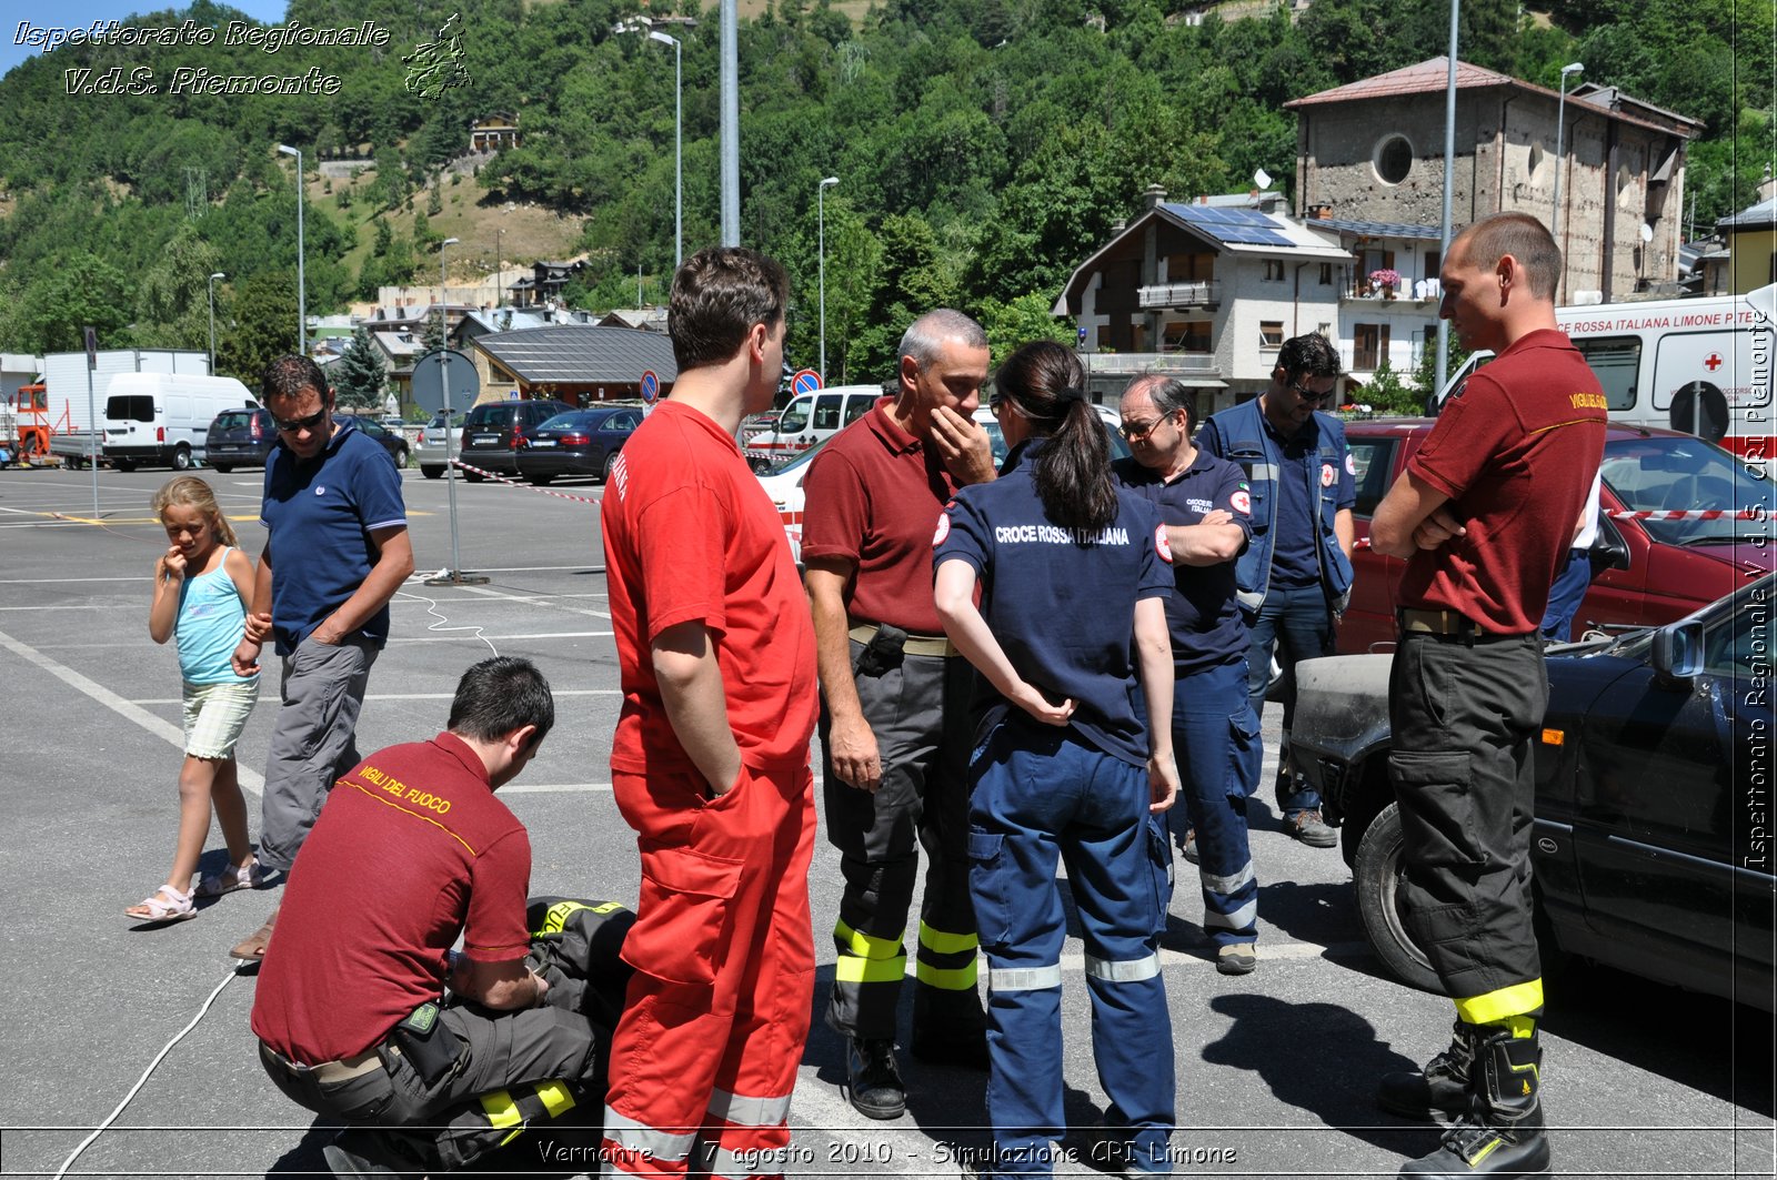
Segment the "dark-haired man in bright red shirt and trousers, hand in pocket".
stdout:
[[771,1176],[789,1146],[814,992],[814,626],[734,442],[777,391],[787,295],[753,251],[686,259],[672,400],[601,508],[624,688],[611,789],[641,853],[604,1111],[618,1173]]

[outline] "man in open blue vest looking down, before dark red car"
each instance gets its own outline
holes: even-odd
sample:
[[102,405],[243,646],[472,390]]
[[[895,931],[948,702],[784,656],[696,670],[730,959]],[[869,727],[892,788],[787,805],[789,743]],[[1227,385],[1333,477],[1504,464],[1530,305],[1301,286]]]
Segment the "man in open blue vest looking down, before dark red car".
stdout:
[[1283,666],[1283,745],[1278,748],[1278,809],[1290,835],[1313,848],[1338,837],[1320,819],[1320,793],[1287,769],[1295,714],[1295,665],[1333,654],[1338,615],[1351,597],[1351,508],[1356,467],[1345,427],[1326,405],[1338,386],[1333,341],[1294,336],[1278,350],[1271,386],[1256,400],[1212,414],[1198,446],[1246,471],[1253,501],[1253,544],[1235,576],[1251,631],[1247,690],[1253,713],[1265,711],[1271,659]]

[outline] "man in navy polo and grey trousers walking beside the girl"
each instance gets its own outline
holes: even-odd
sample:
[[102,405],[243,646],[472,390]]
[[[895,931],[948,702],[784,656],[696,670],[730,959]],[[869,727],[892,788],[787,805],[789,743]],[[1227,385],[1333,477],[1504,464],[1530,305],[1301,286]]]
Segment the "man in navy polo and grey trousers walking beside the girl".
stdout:
[[[389,638],[389,599],[414,572],[402,473],[377,442],[332,419],[334,391],[309,357],[265,368],[277,427],[265,464],[265,551],[235,670],[259,670],[267,636],[284,661],[265,766],[259,864],[290,873],[334,780],[359,762],[357,714]],[[229,954],[256,960],[277,910]]]

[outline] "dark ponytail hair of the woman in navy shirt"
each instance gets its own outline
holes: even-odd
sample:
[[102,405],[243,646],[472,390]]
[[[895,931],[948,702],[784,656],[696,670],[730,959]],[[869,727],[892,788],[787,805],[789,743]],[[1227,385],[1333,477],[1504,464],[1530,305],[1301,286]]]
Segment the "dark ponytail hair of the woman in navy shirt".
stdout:
[[1093,533],[1116,521],[1111,442],[1086,400],[1086,371],[1072,350],[1047,339],[1020,347],[1000,366],[995,389],[1011,411],[1048,439],[1031,478],[1050,522]]

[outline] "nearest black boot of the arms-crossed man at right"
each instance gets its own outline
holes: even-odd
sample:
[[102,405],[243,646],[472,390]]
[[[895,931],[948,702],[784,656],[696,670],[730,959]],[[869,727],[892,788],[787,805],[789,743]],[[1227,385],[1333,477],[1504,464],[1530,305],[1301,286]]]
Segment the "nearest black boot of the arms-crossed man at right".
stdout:
[[1402,1166],[1402,1176],[1546,1176],[1550,1143],[1542,1127],[1542,1047],[1535,1032],[1514,1038],[1509,1029],[1473,1029],[1475,1063],[1470,1112],[1443,1134],[1425,1159]]

